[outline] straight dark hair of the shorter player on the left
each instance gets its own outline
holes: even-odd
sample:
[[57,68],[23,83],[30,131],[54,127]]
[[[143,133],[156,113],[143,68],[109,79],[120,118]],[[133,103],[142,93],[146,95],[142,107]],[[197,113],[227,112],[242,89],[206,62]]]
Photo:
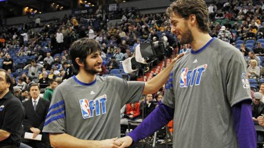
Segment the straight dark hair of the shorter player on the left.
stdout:
[[86,57],[89,54],[101,51],[100,45],[95,39],[82,38],[74,41],[70,46],[70,57],[73,66],[79,71],[79,65],[75,61],[76,58],[80,58],[81,62],[85,62]]

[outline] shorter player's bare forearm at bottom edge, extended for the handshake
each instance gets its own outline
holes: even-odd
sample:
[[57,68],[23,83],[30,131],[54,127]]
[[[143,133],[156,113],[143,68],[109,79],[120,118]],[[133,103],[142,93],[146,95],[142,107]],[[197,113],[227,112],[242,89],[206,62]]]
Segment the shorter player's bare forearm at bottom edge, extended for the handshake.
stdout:
[[97,148],[99,144],[99,141],[82,140],[66,133],[49,134],[49,139],[51,146],[56,148]]

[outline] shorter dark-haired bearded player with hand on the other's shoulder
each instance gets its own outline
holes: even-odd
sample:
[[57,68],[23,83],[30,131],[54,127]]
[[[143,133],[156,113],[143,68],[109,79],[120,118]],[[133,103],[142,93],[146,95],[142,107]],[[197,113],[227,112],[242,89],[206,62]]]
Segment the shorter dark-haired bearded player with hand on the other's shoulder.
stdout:
[[96,75],[101,71],[103,60],[94,39],[73,42],[70,55],[78,74],[55,89],[44,123],[43,132],[49,132],[53,147],[120,146],[115,140],[120,137],[121,107],[139,101],[141,94],[158,91],[182,56],[177,56],[160,74],[144,83]]

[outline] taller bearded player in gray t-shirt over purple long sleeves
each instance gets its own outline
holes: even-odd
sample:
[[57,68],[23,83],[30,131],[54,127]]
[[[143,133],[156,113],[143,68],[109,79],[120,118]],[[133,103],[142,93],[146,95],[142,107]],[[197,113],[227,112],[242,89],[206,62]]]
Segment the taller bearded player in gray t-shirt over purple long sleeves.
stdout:
[[190,43],[192,49],[174,66],[158,107],[117,141],[122,142],[121,147],[128,147],[173,119],[173,148],[256,148],[242,54],[208,34],[205,1],[177,0],[167,13],[171,32],[181,44]]

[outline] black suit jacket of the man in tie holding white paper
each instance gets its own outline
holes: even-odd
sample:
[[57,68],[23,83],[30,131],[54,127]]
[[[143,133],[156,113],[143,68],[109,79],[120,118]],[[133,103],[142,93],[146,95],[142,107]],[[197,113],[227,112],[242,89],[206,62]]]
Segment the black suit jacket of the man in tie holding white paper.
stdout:
[[[22,103],[25,107],[26,116],[23,120],[23,126],[25,132],[31,132],[30,128],[35,127],[42,131],[46,119],[46,115],[49,110],[50,102],[42,98],[39,99],[36,110],[34,110],[32,99],[29,99]],[[41,141],[49,141],[49,135],[47,133],[42,133]],[[23,139],[25,142],[30,142],[31,140]]]

